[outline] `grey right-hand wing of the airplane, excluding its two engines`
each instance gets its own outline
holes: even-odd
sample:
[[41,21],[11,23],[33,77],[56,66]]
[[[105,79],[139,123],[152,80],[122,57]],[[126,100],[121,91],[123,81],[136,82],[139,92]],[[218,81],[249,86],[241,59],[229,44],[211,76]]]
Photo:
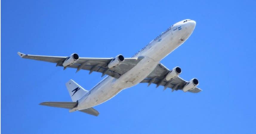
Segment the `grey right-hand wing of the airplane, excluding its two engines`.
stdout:
[[[163,64],[159,63],[158,66],[149,74],[144,80],[141,81],[141,83],[148,83],[148,86],[151,83],[156,84],[156,87],[158,86],[164,86],[164,90],[169,87],[172,89],[172,92],[174,90],[182,90],[187,81],[183,80],[181,77],[177,76],[176,78],[167,81],[165,79],[165,76],[169,73],[169,69],[166,68]],[[195,87],[192,90],[189,90],[188,92],[192,93],[198,93],[202,90],[198,87]]]

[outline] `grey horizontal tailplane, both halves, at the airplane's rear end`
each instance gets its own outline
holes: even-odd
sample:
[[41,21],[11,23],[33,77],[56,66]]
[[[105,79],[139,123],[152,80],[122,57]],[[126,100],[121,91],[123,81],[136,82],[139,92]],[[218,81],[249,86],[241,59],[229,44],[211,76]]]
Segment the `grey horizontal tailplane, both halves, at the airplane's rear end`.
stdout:
[[[39,105],[53,106],[53,107],[64,108],[64,109],[73,109],[78,105],[78,103],[77,102],[42,102]],[[97,110],[95,110],[92,107],[88,109],[78,110],[78,111],[91,114],[94,116],[98,116],[100,114]]]

